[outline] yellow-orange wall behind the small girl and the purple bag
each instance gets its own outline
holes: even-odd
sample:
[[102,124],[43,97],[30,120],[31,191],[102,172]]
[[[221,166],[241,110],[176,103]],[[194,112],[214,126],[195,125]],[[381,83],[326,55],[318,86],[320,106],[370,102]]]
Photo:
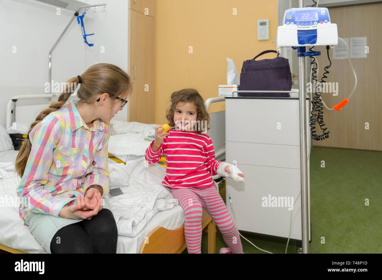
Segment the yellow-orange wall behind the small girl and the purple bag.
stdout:
[[[258,19],[269,19],[269,40],[257,40]],[[166,122],[176,90],[195,88],[204,100],[217,97],[218,85],[227,83],[225,58],[233,59],[240,74],[244,60],[276,50],[271,43],[276,30],[277,0],[156,0],[155,123]],[[209,112],[220,110],[224,102],[212,104]]]

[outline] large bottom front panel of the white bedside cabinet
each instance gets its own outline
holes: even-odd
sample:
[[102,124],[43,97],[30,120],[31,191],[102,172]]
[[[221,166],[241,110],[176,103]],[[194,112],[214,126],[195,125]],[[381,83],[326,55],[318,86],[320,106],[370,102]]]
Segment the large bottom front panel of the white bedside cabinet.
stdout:
[[[235,210],[238,229],[288,238],[291,215],[291,210],[288,210],[288,203],[284,205],[285,207],[281,207],[280,204],[277,205],[278,207],[272,207],[269,205],[268,200],[269,196],[271,198],[290,197],[289,202],[295,202],[290,237],[301,240],[300,171],[297,169],[240,164],[238,164],[238,167],[244,173],[244,183],[238,183],[229,178],[226,181],[227,191]],[[232,216],[233,211],[228,200],[228,192],[227,208]],[[291,197],[293,197],[293,200]],[[310,205],[309,198],[308,180],[308,207]],[[310,208],[308,208],[308,215],[309,239],[311,239]]]

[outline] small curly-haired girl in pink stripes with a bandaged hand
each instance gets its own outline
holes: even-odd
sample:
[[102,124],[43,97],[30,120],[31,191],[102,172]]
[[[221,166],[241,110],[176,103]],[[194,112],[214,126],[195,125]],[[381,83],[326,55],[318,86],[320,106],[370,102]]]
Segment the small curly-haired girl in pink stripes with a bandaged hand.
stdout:
[[[215,160],[214,146],[206,134],[209,114],[200,94],[193,89],[176,91],[167,109],[170,129],[155,128],[155,140],[147,148],[148,163],[159,162],[166,155],[166,176],[162,184],[169,187],[185,210],[185,239],[188,253],[201,253],[202,207],[223,235],[229,248],[220,253],[243,253],[239,232],[215,187],[212,175],[219,174],[243,182],[244,175],[236,167]],[[205,125],[204,125],[205,124]]]

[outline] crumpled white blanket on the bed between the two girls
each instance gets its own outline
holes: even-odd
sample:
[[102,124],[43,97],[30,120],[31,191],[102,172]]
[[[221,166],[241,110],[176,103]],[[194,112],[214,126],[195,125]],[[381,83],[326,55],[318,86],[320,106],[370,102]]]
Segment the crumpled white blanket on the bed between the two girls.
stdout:
[[108,199],[117,222],[118,235],[134,237],[158,211],[178,205],[170,190],[162,186],[166,169],[159,164],[145,167],[144,157],[110,168],[110,188],[123,194]]

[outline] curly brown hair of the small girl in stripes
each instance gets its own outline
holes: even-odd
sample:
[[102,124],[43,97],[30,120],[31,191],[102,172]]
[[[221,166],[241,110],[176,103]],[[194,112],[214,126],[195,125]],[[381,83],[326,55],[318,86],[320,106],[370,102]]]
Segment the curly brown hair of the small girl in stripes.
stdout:
[[[184,88],[183,90],[178,90],[171,94],[171,105],[166,111],[166,118],[170,126],[175,126],[174,114],[178,102],[189,102],[196,107],[197,122],[195,123],[194,130],[197,131],[198,134],[201,134],[203,130],[207,132],[207,130],[210,129],[210,115],[207,112],[206,103],[204,103],[203,98],[197,90],[194,90],[193,88]],[[206,126],[201,127],[202,122],[206,123]]]

